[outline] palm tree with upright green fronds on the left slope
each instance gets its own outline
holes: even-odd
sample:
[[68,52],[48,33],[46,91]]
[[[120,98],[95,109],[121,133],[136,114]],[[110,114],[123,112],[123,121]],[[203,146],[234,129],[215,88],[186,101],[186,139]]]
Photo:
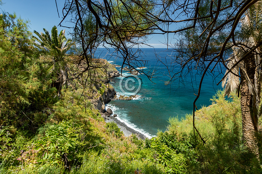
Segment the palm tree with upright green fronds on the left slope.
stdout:
[[68,80],[68,67],[65,61],[65,54],[74,44],[71,39],[66,39],[65,30],[60,31],[58,35],[57,27],[53,26],[51,35],[49,31],[43,29],[45,33],[39,34],[34,30],[37,37],[33,38],[37,41],[36,46],[44,56],[51,56],[52,69],[55,71],[55,81],[52,83],[53,87],[57,88],[58,96],[60,97],[60,91],[62,85],[66,84]]

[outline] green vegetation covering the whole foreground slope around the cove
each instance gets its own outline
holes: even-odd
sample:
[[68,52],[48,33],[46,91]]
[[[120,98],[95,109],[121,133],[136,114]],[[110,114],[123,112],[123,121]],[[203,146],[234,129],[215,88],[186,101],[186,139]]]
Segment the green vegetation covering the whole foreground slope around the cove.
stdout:
[[[47,37],[45,32],[38,37]],[[56,34],[53,27],[52,36]],[[59,37],[61,46],[63,32],[52,39]],[[0,174],[262,172],[257,156],[244,145],[240,99],[235,95],[225,99],[218,91],[212,105],[197,111],[195,124],[208,139],[206,144],[195,135],[192,115],[170,118],[168,130],[150,140],[125,137],[115,123],[105,123],[92,103],[110,88],[104,82],[103,62],[95,63],[99,68],[91,75],[83,73],[76,80],[72,73],[72,80],[62,83],[56,76],[61,69],[48,73],[48,63],[41,59],[54,56],[55,67],[57,52],[40,53],[40,47],[34,47],[27,21],[4,13],[0,39]],[[59,57],[62,67],[76,66],[74,55]],[[83,79],[94,87],[85,86]]]

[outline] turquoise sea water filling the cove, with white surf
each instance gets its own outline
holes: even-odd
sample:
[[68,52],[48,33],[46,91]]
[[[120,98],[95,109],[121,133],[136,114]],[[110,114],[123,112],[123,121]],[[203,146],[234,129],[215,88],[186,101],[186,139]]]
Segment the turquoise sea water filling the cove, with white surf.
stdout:
[[[148,60],[146,65],[142,65],[146,67],[144,70],[152,73],[152,70],[155,69],[154,72],[157,74],[156,76],[158,76],[157,78],[151,79],[155,84],[152,83],[146,75],[140,74],[138,77],[141,78],[141,88],[138,91],[138,95],[144,99],[138,100],[137,97],[137,100],[115,100],[109,102],[106,108],[110,107],[113,113],[117,114],[117,118],[126,123],[127,126],[143,133],[147,137],[152,137],[157,134],[158,130],[166,130],[166,126],[168,126],[167,121],[170,117],[178,116],[182,118],[185,114],[192,113],[193,102],[196,98],[194,93],[197,94],[200,76],[193,74],[193,76],[196,77],[196,80],[193,82],[191,81],[191,77],[188,76],[187,79],[184,79],[184,84],[179,82],[179,80],[175,80],[171,85],[166,85],[167,81],[170,80],[170,77],[166,75],[168,74],[167,68],[164,64],[157,61],[155,53],[162,58],[166,57],[168,63],[171,62],[170,58],[172,58],[172,56],[170,55],[174,55],[174,53],[165,51],[162,48],[142,48],[142,51],[144,54],[142,54],[141,57]],[[99,48],[95,56],[105,58],[111,64],[122,65],[123,60],[116,58],[116,56],[110,56],[112,53],[113,50],[109,52],[104,48]],[[116,67],[116,69],[119,72],[121,71],[121,67]],[[176,71],[177,70],[174,70],[173,72]],[[171,75],[173,74],[171,73]],[[122,75],[130,76],[127,71],[123,71]],[[134,86],[135,88],[132,91],[126,90],[126,77],[116,77],[110,82],[118,96],[131,95],[132,92],[139,88],[138,80],[134,77],[131,78],[135,82],[127,82],[127,87],[132,88],[132,86]],[[196,103],[198,108],[211,104],[210,98],[212,98],[218,89],[221,89],[220,84],[219,86],[215,84],[215,82],[217,83],[220,79],[220,75],[215,80],[211,76],[205,78],[205,83],[202,84],[201,95]],[[121,85],[119,85],[120,82]],[[120,87],[124,89],[124,92],[121,91]]]

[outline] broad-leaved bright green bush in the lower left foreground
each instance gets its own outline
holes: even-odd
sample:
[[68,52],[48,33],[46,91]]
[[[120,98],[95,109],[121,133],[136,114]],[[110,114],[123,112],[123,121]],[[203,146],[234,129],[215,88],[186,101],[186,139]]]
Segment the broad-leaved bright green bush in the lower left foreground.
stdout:
[[70,124],[62,121],[46,129],[45,137],[35,141],[39,156],[42,160],[38,162],[48,162],[51,164],[61,163],[71,166],[74,160],[79,159],[79,155],[86,146],[85,132],[83,126]]

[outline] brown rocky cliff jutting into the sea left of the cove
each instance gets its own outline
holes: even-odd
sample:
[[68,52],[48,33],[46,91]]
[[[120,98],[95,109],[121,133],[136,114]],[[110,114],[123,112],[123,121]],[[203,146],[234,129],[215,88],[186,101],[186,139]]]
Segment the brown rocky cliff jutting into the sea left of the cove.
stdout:
[[[114,98],[116,95],[116,91],[109,84],[110,78],[119,77],[120,73],[114,67],[115,65],[111,65],[105,59],[92,59],[91,65],[93,67],[91,74],[86,70],[86,64],[73,64],[75,69],[79,71],[75,71],[72,76],[73,80],[69,81],[68,84],[72,86],[73,89],[83,90],[83,86],[85,86],[85,97],[94,105],[94,108],[99,110],[100,112],[105,112],[105,104],[110,102],[110,98]],[[79,75],[79,72],[83,72],[82,75]],[[92,74],[93,73],[93,74]],[[77,77],[77,78],[75,78]],[[83,81],[85,84],[83,85]],[[87,83],[89,83],[87,85]]]

